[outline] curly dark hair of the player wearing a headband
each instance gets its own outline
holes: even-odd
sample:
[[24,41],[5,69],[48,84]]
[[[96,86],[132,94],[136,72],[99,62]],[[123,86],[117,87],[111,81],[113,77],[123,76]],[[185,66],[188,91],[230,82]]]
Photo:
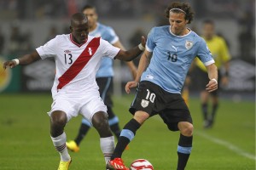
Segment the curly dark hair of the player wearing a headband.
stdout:
[[[188,24],[191,23],[191,21],[193,20],[194,18],[194,12],[192,11],[192,8],[190,7],[189,3],[180,3],[180,2],[174,2],[174,3],[171,3],[167,8],[166,8],[166,18],[169,19],[170,17],[170,10],[172,8],[179,8],[181,9],[182,11],[184,11],[185,13],[185,20],[189,20],[188,21]],[[179,10],[174,10],[174,12],[177,12]],[[179,12],[182,12],[182,11],[179,11]]]

